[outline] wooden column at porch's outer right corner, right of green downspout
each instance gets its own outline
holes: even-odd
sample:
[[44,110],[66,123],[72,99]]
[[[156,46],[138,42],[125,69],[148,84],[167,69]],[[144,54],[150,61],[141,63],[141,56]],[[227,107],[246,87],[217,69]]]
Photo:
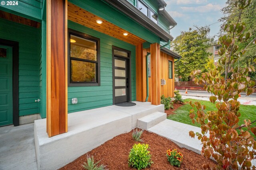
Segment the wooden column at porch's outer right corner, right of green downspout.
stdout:
[[150,45],[151,56],[151,104],[160,105],[160,45]]

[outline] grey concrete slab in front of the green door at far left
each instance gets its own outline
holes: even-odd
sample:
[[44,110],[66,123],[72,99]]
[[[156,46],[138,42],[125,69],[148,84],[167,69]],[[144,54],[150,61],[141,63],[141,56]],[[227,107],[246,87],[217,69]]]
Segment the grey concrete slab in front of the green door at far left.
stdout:
[[0,170],[36,170],[34,123],[0,127]]

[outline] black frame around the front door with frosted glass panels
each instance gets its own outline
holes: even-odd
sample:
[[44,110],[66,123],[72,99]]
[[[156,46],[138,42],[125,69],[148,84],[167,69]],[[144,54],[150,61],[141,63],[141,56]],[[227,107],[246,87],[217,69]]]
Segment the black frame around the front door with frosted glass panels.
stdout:
[[[120,55],[114,55],[114,50],[118,50],[118,51],[124,51],[126,53],[128,53],[128,57],[124,57],[124,56],[120,56]],[[115,59],[114,56],[116,57],[120,57],[120,58],[124,58],[127,59],[126,62],[126,70],[128,72],[128,92],[127,92],[127,97],[128,97],[128,102],[132,102],[132,81],[131,81],[131,51],[128,51],[126,49],[122,49],[120,47],[116,47],[114,45],[112,45],[112,87],[113,87],[113,105],[115,104]]]

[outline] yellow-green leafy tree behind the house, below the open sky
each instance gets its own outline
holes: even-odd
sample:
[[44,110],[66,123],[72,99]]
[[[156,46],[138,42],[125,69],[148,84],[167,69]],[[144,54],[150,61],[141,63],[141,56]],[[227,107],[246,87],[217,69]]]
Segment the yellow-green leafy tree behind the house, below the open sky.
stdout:
[[189,31],[182,31],[172,42],[173,50],[182,56],[174,67],[176,76],[181,76],[182,80],[188,81],[192,70],[206,68],[211,55],[207,51],[212,42],[209,32],[209,27],[196,27],[194,31],[190,28]]

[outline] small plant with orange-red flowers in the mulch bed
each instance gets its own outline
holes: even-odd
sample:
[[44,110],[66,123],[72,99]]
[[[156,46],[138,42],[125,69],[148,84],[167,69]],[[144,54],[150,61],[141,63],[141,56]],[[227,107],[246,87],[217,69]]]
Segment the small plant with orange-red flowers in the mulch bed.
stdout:
[[178,152],[176,149],[174,150],[169,149],[166,152],[167,152],[166,156],[168,158],[168,162],[170,162],[172,166],[180,167],[180,164],[183,160],[183,154]]

